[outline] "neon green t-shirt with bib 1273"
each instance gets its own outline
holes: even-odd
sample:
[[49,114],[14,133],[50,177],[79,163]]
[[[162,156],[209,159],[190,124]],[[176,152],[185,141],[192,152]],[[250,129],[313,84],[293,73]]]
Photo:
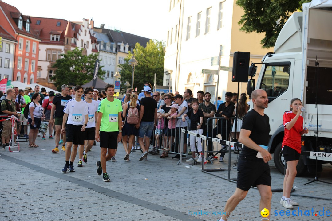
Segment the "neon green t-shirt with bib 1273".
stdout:
[[119,112],[122,112],[122,105],[119,99],[114,98],[114,101],[111,102],[105,98],[99,103],[98,112],[103,113],[100,131],[119,131],[118,121],[122,121],[122,119],[118,119]]

